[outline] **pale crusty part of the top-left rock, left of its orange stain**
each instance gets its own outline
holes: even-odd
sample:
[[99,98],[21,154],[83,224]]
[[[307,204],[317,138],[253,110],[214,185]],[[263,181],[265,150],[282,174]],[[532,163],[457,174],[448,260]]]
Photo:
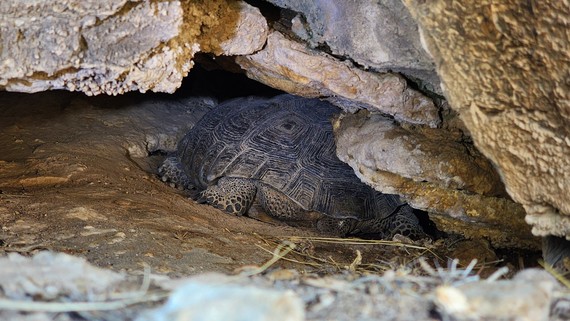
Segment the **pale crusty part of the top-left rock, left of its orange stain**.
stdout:
[[[178,34],[178,2],[66,1],[54,6],[9,1],[0,10],[0,85],[9,91],[160,91],[175,88],[172,82],[180,82],[190,68],[180,70],[169,62],[182,54],[181,48],[158,50]],[[119,81],[121,74],[125,77]]]

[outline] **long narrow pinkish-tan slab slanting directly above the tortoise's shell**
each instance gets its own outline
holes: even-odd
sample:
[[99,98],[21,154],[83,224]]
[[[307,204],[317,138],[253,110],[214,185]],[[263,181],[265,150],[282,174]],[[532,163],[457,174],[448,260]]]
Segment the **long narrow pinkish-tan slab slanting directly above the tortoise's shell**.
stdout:
[[437,127],[441,123],[433,101],[409,88],[403,78],[360,70],[279,32],[269,35],[263,50],[237,57],[236,62],[248,77],[289,93],[331,97],[343,108],[366,106],[413,124]]

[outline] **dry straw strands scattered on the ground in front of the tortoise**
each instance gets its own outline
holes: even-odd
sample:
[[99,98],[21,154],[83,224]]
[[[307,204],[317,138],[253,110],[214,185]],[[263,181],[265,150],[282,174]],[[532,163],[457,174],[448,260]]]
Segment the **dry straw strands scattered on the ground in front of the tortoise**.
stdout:
[[[287,261],[295,265],[309,267],[313,271],[328,271],[331,269],[336,273],[355,273],[358,275],[383,274],[387,271],[395,271],[398,275],[431,276],[440,278],[447,282],[459,279],[466,279],[468,276],[479,278],[481,271],[494,268],[501,261],[478,262],[471,261],[468,265],[461,267],[456,259],[444,259],[436,253],[434,245],[420,245],[418,243],[388,240],[367,240],[359,238],[334,238],[321,236],[289,236],[289,237],[268,237],[254,234],[263,244],[257,245],[262,251],[272,255],[272,258],[262,267],[256,268],[255,273],[262,273],[269,266],[279,260]],[[338,261],[332,255],[327,255],[326,251],[314,250],[315,247],[323,245],[340,246],[352,250],[352,257],[345,257],[344,261]],[[346,246],[346,247],[345,247]],[[393,251],[393,257],[387,259],[377,259],[375,261],[364,261],[359,249],[351,249],[357,246],[366,249],[368,246],[380,247],[385,251]],[[282,249],[286,247],[286,251]],[[426,258],[430,258],[433,263],[427,263]],[[442,267],[444,262],[447,266]],[[461,271],[461,272],[458,272]],[[491,279],[503,277],[508,270],[500,268],[491,275]],[[471,280],[471,279],[469,279]],[[469,281],[467,280],[467,281]]]

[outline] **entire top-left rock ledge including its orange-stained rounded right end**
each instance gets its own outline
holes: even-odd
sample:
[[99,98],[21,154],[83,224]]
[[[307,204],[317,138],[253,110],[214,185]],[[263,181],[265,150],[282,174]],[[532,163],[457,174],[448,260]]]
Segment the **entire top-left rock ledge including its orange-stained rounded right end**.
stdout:
[[173,92],[201,45],[246,54],[267,34],[243,2],[9,0],[0,17],[0,88],[21,92]]

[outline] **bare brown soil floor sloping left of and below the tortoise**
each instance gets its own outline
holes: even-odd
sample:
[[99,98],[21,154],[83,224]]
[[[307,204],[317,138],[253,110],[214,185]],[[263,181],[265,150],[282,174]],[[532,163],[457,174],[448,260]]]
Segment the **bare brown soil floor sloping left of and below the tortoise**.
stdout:
[[[234,217],[163,184],[156,168],[195,121],[189,99],[160,95],[89,98],[0,93],[0,253],[49,249],[114,270],[180,276],[261,265],[299,228]],[[395,244],[294,239],[297,254],[276,265],[299,271],[382,270],[420,255],[447,260],[447,241]],[[467,245],[469,247],[469,245]],[[493,259],[485,246],[472,257]],[[432,251],[432,252],[430,252]],[[469,258],[464,258],[468,260]],[[464,262],[467,264],[468,262]],[[445,263],[444,263],[445,264]]]

